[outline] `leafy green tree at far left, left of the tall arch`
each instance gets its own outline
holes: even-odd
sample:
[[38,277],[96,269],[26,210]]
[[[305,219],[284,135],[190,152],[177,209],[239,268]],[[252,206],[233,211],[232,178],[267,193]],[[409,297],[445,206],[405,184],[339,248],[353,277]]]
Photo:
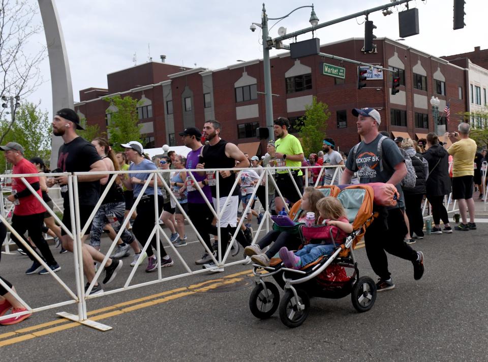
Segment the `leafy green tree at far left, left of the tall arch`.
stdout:
[[[9,129],[10,128],[10,129]],[[2,144],[17,142],[24,147],[24,156],[29,159],[41,157],[45,162],[51,155],[51,122],[47,111],[41,111],[34,103],[21,103],[17,108],[15,123],[2,122],[5,134]],[[0,168],[5,170],[6,161],[0,158]]]

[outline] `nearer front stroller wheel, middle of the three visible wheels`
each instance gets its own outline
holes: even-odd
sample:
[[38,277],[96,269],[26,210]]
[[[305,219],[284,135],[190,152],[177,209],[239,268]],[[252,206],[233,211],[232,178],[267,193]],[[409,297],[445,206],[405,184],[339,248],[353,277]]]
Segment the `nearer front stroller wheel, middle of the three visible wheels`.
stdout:
[[295,294],[287,289],[280,303],[280,319],[290,328],[298,327],[307,319],[310,310],[309,295],[301,289],[296,289],[298,301]]

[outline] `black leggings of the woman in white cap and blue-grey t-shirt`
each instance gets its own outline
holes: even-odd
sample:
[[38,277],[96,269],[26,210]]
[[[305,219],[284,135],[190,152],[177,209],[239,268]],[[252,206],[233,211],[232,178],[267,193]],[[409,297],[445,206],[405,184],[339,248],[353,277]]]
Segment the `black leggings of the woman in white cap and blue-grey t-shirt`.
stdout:
[[[163,196],[158,195],[158,218],[163,211]],[[139,204],[137,205],[137,217],[132,224],[132,232],[136,239],[144,246],[153,231],[155,226],[155,216],[154,216],[154,195],[149,195],[149,198],[141,199]],[[156,231],[159,233],[159,231]],[[151,239],[150,245],[147,246],[147,256],[153,256],[154,251],[157,250],[156,244],[156,233],[153,235],[153,239]],[[166,256],[166,251],[161,244],[161,257]]]

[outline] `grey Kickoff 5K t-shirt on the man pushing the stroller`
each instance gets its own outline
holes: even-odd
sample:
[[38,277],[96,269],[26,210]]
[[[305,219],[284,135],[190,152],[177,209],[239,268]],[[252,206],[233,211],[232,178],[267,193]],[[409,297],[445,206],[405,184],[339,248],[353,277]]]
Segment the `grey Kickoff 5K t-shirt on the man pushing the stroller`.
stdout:
[[[400,162],[405,162],[405,157],[393,140],[387,138],[382,143],[382,157],[384,159],[383,171],[380,171],[380,155],[378,142],[382,136],[378,135],[374,141],[365,143],[362,141],[356,151],[354,162],[354,148],[351,149],[346,161],[346,169],[356,172],[359,183],[386,182],[394,173],[394,167]],[[400,184],[395,185],[400,193],[400,201],[397,207],[404,207],[403,191]]]

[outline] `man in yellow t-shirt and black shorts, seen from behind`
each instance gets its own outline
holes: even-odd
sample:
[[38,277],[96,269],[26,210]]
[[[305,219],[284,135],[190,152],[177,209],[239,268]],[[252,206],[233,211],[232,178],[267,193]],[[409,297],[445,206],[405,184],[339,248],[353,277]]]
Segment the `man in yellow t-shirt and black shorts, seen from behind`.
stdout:
[[[457,126],[459,134],[454,132],[455,137],[453,138],[456,142],[447,150],[447,153],[453,156],[452,199],[459,203],[459,212],[462,218],[462,223],[455,226],[454,229],[459,231],[476,229],[473,200],[473,164],[476,142],[469,138],[469,128],[468,123],[460,123]],[[469,211],[469,222],[467,222],[466,208]]]

